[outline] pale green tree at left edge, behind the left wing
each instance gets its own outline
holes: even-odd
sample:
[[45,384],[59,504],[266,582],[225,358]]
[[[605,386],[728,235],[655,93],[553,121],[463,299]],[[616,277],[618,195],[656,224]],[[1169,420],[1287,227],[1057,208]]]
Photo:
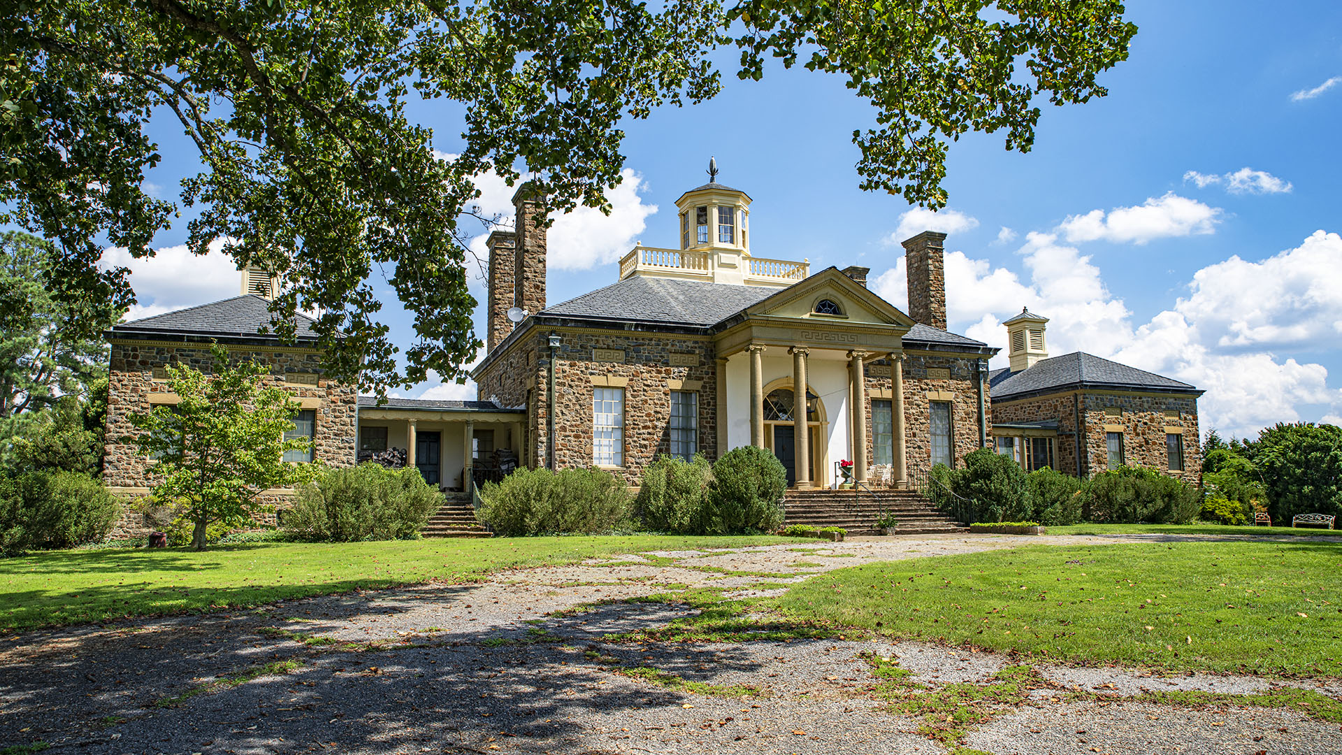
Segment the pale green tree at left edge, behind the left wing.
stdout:
[[55,246],[0,234],[0,420],[85,396],[106,375],[102,330],[123,309],[52,297]]

